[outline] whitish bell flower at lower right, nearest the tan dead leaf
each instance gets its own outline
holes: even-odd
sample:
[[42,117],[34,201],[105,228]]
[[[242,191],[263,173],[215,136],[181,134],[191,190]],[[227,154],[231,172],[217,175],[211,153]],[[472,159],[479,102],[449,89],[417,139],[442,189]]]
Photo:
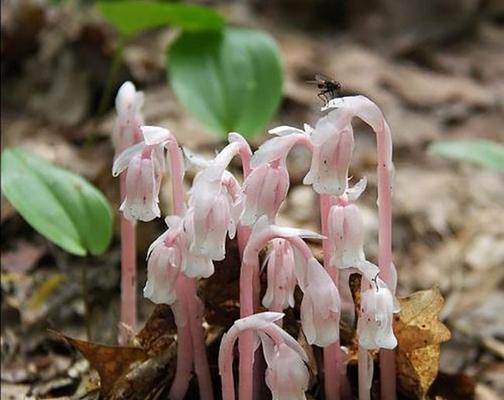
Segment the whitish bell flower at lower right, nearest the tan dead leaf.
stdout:
[[357,321],[359,345],[364,349],[393,349],[397,339],[392,328],[394,296],[379,277],[361,292],[361,309]]

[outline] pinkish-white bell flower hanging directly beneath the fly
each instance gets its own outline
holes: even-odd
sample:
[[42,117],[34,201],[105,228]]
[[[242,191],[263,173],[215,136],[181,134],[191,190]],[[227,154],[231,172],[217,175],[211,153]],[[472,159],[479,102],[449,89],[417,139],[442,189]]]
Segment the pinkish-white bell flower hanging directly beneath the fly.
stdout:
[[305,185],[317,193],[341,196],[347,188],[348,167],[354,147],[350,119],[339,110],[319,119],[311,135],[313,154]]

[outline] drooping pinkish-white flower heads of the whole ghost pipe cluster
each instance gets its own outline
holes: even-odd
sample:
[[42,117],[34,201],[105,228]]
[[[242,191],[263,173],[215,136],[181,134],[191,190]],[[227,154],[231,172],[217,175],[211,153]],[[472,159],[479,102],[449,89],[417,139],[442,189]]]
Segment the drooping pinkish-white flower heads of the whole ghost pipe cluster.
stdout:
[[[141,103],[141,94],[131,83],[125,83],[116,99],[118,122],[114,140],[121,143],[116,144],[121,151],[115,158],[113,174],[126,173],[123,215],[131,220],[150,221],[161,214],[158,203],[166,169],[165,149],[168,149],[172,175],[183,177],[184,163],[182,150],[168,130],[143,126]],[[167,231],[148,250],[144,296],[154,303],[171,305],[177,324],[183,325],[187,316],[179,307],[180,277],[211,276],[213,262],[226,256],[226,237],[239,236],[242,318],[222,339],[219,369],[224,399],[234,398],[232,349],[236,338],[240,345],[240,399],[252,398],[253,353],[257,343],[262,344],[267,362],[266,383],[273,398],[305,398],[309,380],[307,356],[279,322],[282,311],[294,307],[296,286],[303,292],[301,323],[309,344],[326,347],[337,343],[339,346],[340,315],[347,312],[353,316],[354,305],[348,288],[348,277],[353,272],[362,275],[357,320],[360,347],[365,351],[393,349],[397,344],[392,331],[393,313],[397,312],[395,269],[388,262],[386,278],[382,279],[382,266],[380,270],[366,259],[364,226],[356,204],[366,188],[366,180],[353,187],[348,185],[354,147],[352,118],[360,117],[384,138],[381,167],[388,174],[392,171],[390,132],[379,109],[363,96],[332,100],[324,111],[327,113],[313,128],[281,126],[271,130],[274,137],[254,154],[238,133],[229,134],[229,143],[213,160],[184,149],[185,159],[199,168],[187,206],[184,204],[175,215],[166,217]],[[303,145],[312,153],[311,167],[303,183],[312,185],[325,205],[321,211],[322,235],[275,225],[289,189],[286,159],[295,145]],[[235,156],[242,160],[242,183],[227,170]],[[173,185],[177,182],[173,177],[172,181]],[[174,188],[175,191],[183,193],[183,188]],[[379,196],[380,206],[382,201]],[[329,254],[325,254],[325,268],[303,238],[326,241]],[[270,311],[255,313],[259,252],[268,243],[267,290],[262,304]],[[333,281],[331,269],[339,272],[338,281]],[[369,373],[366,379],[370,379]]]

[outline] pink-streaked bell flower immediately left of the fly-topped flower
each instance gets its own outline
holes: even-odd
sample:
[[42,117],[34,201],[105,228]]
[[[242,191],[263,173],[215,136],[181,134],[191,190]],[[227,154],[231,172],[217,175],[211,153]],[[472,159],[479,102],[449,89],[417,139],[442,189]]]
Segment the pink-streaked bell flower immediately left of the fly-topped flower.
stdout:
[[289,173],[283,161],[268,162],[254,168],[243,183],[245,210],[241,222],[253,225],[266,215],[273,223],[288,190]]

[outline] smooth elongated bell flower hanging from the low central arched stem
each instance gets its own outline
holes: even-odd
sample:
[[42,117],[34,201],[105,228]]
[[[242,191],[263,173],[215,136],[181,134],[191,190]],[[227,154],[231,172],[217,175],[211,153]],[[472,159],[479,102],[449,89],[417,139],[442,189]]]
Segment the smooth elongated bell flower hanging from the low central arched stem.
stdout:
[[327,271],[312,257],[301,286],[301,323],[310,344],[325,347],[339,339],[340,299]]

